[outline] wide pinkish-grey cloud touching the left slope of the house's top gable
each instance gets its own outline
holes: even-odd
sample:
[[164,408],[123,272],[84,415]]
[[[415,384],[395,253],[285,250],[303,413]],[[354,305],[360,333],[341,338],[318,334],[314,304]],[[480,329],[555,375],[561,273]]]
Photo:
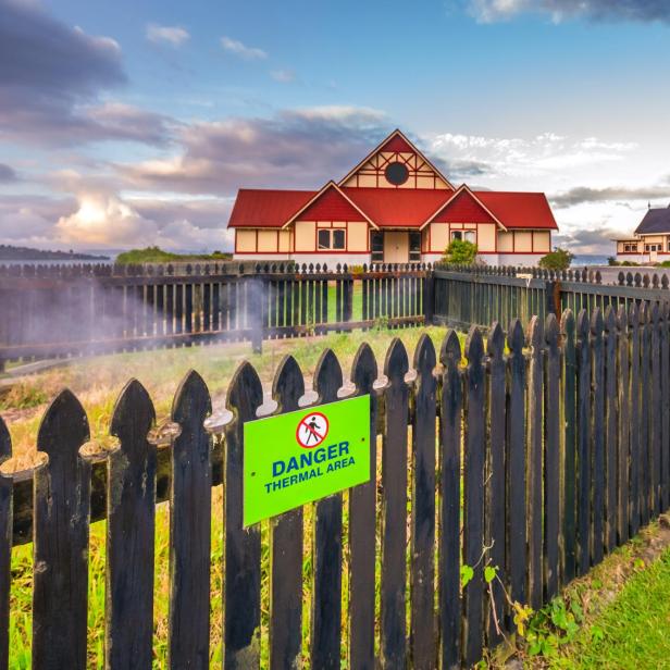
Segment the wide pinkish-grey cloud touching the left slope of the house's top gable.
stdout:
[[388,132],[386,116],[368,108],[288,110],[184,127],[181,152],[116,169],[125,188],[141,190],[229,196],[240,187],[319,187],[346,174]]

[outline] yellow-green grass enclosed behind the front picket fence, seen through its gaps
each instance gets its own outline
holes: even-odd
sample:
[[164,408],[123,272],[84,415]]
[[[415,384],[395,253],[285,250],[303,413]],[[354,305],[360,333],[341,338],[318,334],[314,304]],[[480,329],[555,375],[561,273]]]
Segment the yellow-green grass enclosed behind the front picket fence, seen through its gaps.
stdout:
[[[101,448],[113,445],[109,437],[110,419],[114,401],[125,382],[137,377],[149,390],[156,405],[158,421],[167,418],[172,397],[181,379],[189,369],[198,370],[209,385],[214,411],[224,407],[225,390],[237,365],[247,359],[256,367],[265,392],[271,388],[274,372],[285,353],[291,353],[300,364],[310,388],[311,377],[324,348],[331,347],[343,365],[345,381],[349,380],[353,356],[362,342],[368,342],[376,356],[380,375],[383,374],[384,356],[390,342],[398,336],[408,349],[410,367],[414,347],[421,333],[427,332],[437,351],[446,328],[401,328],[397,331],[372,330],[367,333],[330,334],[323,337],[280,339],[265,342],[263,353],[253,356],[248,343],[212,345],[182,349],[162,349],[135,353],[97,357],[75,361],[70,365],[53,369],[41,374],[18,380],[17,385],[0,400],[0,413],[8,422],[12,435],[15,458],[3,470],[18,470],[29,467],[36,457],[35,443],[39,421],[52,398],[62,387],[70,387],[79,398],[88,414],[91,441]],[[9,468],[8,468],[9,466]],[[223,499],[222,487],[212,489],[212,572],[211,572],[211,661],[221,663],[222,655],[222,554],[223,554]],[[156,530],[156,586],[154,586],[154,668],[164,668],[167,641],[169,604],[169,522],[167,505],[157,511]],[[347,494],[344,501],[345,533],[347,518]],[[310,588],[311,588],[311,529],[312,508],[306,506],[303,551],[303,660],[308,660],[310,635]],[[88,648],[90,668],[101,668],[104,640],[104,532],[103,521],[90,529],[89,562],[89,611]],[[261,655],[262,667],[268,665],[268,620],[269,620],[269,524],[261,524],[262,573],[261,573]],[[346,545],[345,545],[345,561]],[[32,575],[33,546],[15,547],[12,551],[12,590],[10,620],[10,667],[30,667],[32,636]],[[343,611],[347,611],[347,574],[343,579]],[[377,582],[379,583],[379,582]],[[379,605],[377,605],[379,607]],[[344,621],[343,621],[344,626]],[[343,659],[347,633],[343,635]]]

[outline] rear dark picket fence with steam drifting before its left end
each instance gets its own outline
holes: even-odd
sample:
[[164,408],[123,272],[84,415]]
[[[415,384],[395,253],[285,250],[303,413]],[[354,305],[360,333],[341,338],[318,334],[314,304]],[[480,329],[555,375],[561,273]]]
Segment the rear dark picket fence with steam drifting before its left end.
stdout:
[[229,265],[0,268],[0,363],[424,321],[426,265]]

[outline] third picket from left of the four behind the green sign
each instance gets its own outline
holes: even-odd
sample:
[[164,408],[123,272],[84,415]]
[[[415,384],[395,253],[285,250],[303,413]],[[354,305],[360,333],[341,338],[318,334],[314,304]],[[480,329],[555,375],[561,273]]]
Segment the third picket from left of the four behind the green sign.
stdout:
[[[314,371],[319,404],[334,402],[343,375],[337,357],[325,349]],[[313,668],[340,667],[342,636],[342,494],[322,498],[315,505],[312,542],[312,637]]]

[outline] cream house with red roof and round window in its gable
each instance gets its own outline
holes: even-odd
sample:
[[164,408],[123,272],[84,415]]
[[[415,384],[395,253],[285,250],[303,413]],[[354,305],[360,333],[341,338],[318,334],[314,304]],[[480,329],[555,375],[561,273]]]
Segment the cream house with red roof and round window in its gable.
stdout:
[[558,229],[544,194],[454,186],[400,131],[319,190],[239,189],[228,227],[235,259],[328,265],[434,262],[452,239],[532,265]]

